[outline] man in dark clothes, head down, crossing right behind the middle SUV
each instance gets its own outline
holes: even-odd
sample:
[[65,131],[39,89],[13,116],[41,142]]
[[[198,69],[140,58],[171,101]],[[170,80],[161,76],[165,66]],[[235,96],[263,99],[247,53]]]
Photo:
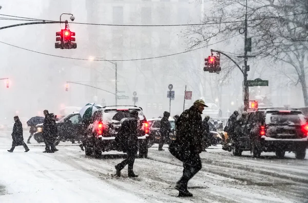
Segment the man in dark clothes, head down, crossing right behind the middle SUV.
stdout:
[[119,139],[122,140],[127,152],[127,159],[115,166],[117,176],[121,176],[121,170],[128,164],[128,177],[138,177],[133,172],[133,163],[138,151],[138,111],[130,111],[130,118],[126,119],[121,126]]

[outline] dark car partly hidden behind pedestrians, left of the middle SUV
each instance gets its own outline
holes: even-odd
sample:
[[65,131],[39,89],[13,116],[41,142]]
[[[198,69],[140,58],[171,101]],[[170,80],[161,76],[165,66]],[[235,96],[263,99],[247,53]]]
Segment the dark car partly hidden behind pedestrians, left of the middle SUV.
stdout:
[[[57,139],[55,145],[58,145],[60,141],[75,141],[80,142],[85,132],[85,124],[82,123],[82,118],[79,113],[69,114],[62,118],[60,121],[55,122],[57,127]],[[37,124],[36,132],[33,134],[33,138],[36,142],[44,142],[43,138],[43,123]]]

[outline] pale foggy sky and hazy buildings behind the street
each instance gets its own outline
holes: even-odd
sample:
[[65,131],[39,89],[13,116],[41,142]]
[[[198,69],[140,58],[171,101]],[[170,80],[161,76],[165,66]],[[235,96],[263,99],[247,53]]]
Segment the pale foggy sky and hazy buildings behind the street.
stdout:
[[[72,13],[75,22],[102,24],[192,24],[199,23],[202,12],[211,6],[195,1],[60,1],[60,0],[10,0],[0,1],[1,14],[59,20],[61,13]],[[62,20],[69,20],[63,15]],[[77,49],[54,48],[55,32],[64,25],[31,25],[0,31],[0,41],[14,46],[52,55],[95,58],[107,60],[138,59],[183,52],[188,49],[185,30],[189,27],[110,27],[71,24],[76,33]],[[0,20],[0,26],[18,24],[21,21]],[[249,30],[248,30],[249,33]],[[217,103],[223,117],[228,111],[237,110],[242,102],[242,74],[235,69],[227,81],[220,83],[223,74],[203,71],[204,58],[210,49],[230,53],[243,53],[244,36],[230,38],[208,48],[158,59],[123,61],[118,63],[119,95],[128,96],[118,100],[119,105],[132,105],[132,93],[137,92],[139,102],[147,118],[162,116],[169,110],[168,84],[174,85],[175,100],[171,101],[171,116],[183,110],[184,89],[192,91],[192,100],[186,100],[185,108],[200,97],[206,102]],[[210,42],[215,43],[215,41]],[[114,95],[85,87],[69,84],[80,82],[114,92],[114,65],[107,61],[73,60],[52,57],[18,49],[0,43],[0,78],[10,78],[0,85],[0,115],[11,118],[14,115],[31,118],[43,115],[44,109],[59,114],[65,106],[84,106],[95,102],[114,105]],[[253,48],[254,49],[254,48]],[[232,56],[232,55],[230,55]],[[223,57],[222,57],[223,58]],[[238,62],[240,59],[235,58]],[[227,68],[223,59],[222,69]],[[249,87],[255,95],[266,95],[273,106],[303,106],[300,85],[295,86],[281,73],[287,65],[269,64],[266,60],[249,59],[251,71],[248,79],[269,80],[268,87]],[[243,63],[240,63],[242,66]],[[252,98],[251,98],[252,99]]]

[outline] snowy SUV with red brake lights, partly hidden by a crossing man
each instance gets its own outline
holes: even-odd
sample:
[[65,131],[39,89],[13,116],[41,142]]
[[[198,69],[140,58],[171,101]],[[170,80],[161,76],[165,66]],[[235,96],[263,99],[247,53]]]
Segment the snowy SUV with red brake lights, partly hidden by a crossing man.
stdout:
[[95,111],[83,141],[86,155],[94,154],[95,157],[99,157],[102,151],[122,151],[119,143],[115,141],[115,136],[117,136],[122,122],[129,117],[129,112],[133,109],[139,113],[139,157],[146,158],[148,154],[148,123],[142,109],[137,106],[105,106]]

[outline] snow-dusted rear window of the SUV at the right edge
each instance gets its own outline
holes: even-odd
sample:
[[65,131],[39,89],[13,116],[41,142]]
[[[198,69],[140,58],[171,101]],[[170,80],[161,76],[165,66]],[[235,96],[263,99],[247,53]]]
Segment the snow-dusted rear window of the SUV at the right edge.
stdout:
[[304,115],[298,112],[270,112],[266,114],[266,125],[303,125]]

